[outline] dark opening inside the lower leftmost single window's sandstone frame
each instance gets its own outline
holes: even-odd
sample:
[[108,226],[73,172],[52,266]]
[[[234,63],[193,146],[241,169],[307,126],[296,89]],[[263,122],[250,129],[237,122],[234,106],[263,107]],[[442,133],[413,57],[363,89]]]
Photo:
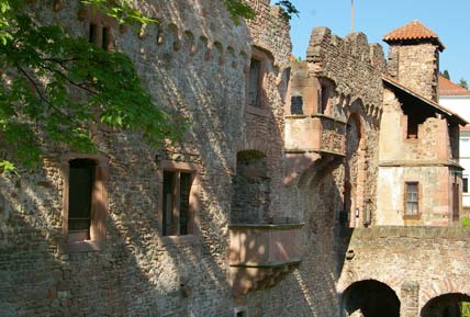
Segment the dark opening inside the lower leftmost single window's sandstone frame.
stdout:
[[89,159],[69,162],[68,231],[79,240],[90,239],[94,168]]

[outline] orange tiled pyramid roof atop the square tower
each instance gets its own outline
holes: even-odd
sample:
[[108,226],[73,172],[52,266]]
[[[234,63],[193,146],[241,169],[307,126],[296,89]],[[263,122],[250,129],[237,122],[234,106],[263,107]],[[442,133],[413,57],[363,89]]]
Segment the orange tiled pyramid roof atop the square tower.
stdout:
[[383,41],[391,44],[396,42],[416,42],[428,39],[439,46],[439,50],[446,48],[440,42],[439,36],[422,22],[414,20],[399,29],[395,29],[383,36]]

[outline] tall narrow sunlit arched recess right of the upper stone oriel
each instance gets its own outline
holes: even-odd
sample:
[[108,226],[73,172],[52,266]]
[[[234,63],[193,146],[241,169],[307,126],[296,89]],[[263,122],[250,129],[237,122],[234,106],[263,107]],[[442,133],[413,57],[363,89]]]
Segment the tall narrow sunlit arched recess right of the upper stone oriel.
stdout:
[[[366,151],[365,128],[358,112],[349,115],[345,137],[345,178],[343,192],[343,211],[345,225],[361,227],[365,225],[365,183]],[[347,215],[347,217],[346,217]]]

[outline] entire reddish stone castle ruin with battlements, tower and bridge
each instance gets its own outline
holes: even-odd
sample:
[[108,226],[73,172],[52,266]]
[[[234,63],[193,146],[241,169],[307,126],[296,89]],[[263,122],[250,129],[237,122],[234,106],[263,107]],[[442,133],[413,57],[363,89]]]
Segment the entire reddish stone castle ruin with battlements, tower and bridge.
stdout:
[[160,23],[127,30],[30,2],[125,52],[190,126],[159,150],[98,128],[98,155],[44,145],[41,170],[0,176],[0,316],[460,316],[467,123],[437,103],[433,31],[390,32],[387,61],[314,29],[291,61],[269,0],[239,25],[220,0],[138,1]]

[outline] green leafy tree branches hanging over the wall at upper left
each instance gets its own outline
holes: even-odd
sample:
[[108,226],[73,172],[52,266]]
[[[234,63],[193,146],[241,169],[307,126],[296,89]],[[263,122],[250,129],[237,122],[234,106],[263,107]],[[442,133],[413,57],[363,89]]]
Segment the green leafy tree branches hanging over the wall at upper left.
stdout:
[[[103,124],[142,133],[154,146],[181,135],[183,121],[153,103],[126,55],[40,25],[20,2],[0,0],[0,148],[13,162],[34,167],[43,139],[92,152],[90,128]],[[83,2],[121,23],[153,22],[127,0]],[[0,157],[0,168],[14,167]]]

